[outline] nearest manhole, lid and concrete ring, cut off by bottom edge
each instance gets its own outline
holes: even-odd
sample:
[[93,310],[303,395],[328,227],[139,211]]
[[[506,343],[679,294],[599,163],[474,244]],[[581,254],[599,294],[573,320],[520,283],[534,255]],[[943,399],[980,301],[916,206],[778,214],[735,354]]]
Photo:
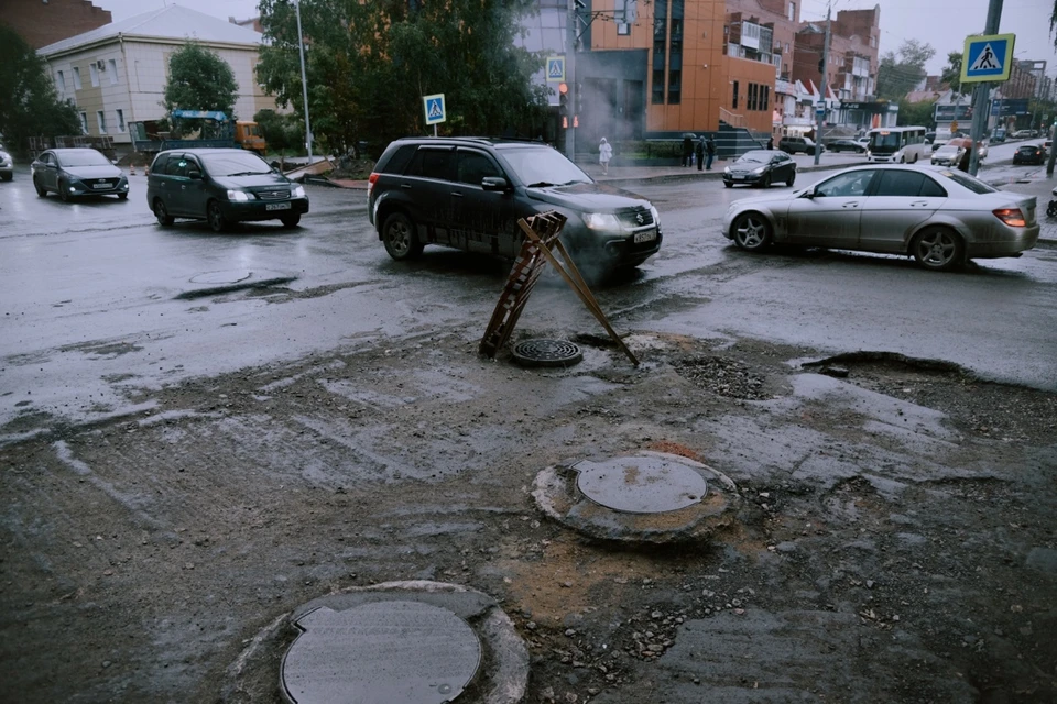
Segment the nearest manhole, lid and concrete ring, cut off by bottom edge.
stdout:
[[517,704],[528,683],[495,600],[442,582],[352,587],[284,614],[228,668],[222,700],[272,701],[280,657],[290,704]]

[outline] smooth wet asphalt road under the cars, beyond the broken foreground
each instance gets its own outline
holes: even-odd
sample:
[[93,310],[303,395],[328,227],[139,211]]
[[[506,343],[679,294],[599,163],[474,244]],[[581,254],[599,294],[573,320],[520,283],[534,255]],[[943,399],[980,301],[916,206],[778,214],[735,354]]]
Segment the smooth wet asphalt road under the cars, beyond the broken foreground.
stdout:
[[[952,274],[843,252],[751,255],[719,227],[733,199],[759,191],[719,180],[632,188],[657,205],[665,242],[636,275],[596,292],[618,330],[892,351],[1057,388],[1053,246]],[[25,168],[0,185],[0,427],[34,413],[78,422],[142,410],[153,388],[342,345],[483,332],[506,274],[502,262],[439,249],[391,261],[364,191],[309,187],[302,227],[225,234],[157,226],[144,193],[139,175],[127,201],[67,205],[37,198]],[[602,332],[557,284],[537,289],[523,320],[533,316]]]

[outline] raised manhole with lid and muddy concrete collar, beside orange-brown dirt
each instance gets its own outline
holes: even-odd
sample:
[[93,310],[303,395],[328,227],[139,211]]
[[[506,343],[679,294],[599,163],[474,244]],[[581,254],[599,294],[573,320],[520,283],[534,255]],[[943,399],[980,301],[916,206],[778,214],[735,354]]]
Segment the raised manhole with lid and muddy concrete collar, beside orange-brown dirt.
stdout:
[[651,451],[548,466],[532,496],[548,517],[584,535],[655,544],[707,540],[732,527],[741,508],[726,474]]

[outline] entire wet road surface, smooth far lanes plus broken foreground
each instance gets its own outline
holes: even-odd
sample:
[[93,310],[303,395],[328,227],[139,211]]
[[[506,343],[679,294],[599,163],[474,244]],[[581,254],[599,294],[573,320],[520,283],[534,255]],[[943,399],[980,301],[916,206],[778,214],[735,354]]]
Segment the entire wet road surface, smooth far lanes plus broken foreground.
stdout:
[[[722,204],[669,202],[672,251],[596,288],[641,365],[552,282],[511,344],[570,340],[582,360],[523,367],[478,354],[502,265],[391,263],[348,224],[362,205],[340,199],[361,196],[312,197],[319,220],[287,233],[79,233],[100,251],[140,238],[148,268],[181,285],[130,275],[94,305],[20,294],[0,311],[0,676],[18,701],[279,704],[281,673],[291,691],[318,684],[303,674],[315,625],[393,584],[436,593],[372,608],[469,632],[427,608],[446,607],[477,634],[458,702],[522,686],[524,702],[577,704],[1057,696],[1046,251],[950,277],[763,261],[701,244]],[[152,243],[181,256],[151,258]],[[41,248],[81,250],[43,232]],[[251,271],[290,280],[177,298],[196,275]],[[788,292],[824,273],[831,293],[808,315]],[[755,287],[758,316],[761,280],[787,286]],[[905,326],[906,309],[854,312],[897,286],[931,309]],[[1007,315],[972,346],[1013,305],[945,320],[979,287],[1040,301],[1036,319]],[[729,477],[722,524],[600,539],[533,498],[547,468],[643,453]]]

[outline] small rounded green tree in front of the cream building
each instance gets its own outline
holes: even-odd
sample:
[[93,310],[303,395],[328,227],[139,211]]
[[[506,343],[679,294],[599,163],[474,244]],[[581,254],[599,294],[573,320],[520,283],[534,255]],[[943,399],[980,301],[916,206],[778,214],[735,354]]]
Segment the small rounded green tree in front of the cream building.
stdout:
[[219,110],[235,119],[235,100],[239,84],[226,61],[196,42],[188,42],[168,59],[168,82],[165,84],[166,112],[183,110]]

